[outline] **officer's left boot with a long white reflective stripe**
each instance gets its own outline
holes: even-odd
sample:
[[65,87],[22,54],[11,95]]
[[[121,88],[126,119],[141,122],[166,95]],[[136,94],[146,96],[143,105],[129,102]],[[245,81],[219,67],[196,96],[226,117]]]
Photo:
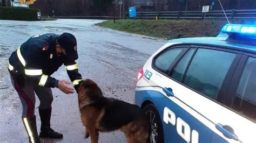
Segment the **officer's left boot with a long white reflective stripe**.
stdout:
[[36,116],[33,116],[32,118],[22,118],[23,124],[26,129],[26,133],[29,135],[29,142],[35,142],[39,143],[40,142],[40,137],[38,136],[37,133],[37,127],[36,127]]

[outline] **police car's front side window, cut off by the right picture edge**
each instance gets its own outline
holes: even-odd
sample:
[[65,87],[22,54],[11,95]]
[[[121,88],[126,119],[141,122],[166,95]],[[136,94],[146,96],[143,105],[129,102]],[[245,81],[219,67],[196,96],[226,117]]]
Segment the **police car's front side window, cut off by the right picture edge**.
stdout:
[[249,58],[242,73],[234,109],[256,120],[256,59]]

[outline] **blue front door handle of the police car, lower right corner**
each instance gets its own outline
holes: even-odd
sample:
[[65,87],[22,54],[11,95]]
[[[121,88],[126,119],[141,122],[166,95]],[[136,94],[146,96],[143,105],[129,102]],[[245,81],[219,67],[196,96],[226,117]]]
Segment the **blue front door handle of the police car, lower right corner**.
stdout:
[[225,137],[227,137],[228,139],[233,139],[233,140],[238,140],[237,135],[234,134],[234,130],[231,126],[228,125],[221,125],[221,124],[216,124],[215,127],[221,132],[223,133],[223,135]]

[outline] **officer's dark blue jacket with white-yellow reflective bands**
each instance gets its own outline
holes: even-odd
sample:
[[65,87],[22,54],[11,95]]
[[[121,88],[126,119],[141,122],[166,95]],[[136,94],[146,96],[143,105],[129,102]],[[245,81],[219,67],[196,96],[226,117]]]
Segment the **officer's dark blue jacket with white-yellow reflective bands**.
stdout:
[[9,58],[10,73],[23,75],[42,87],[54,88],[57,87],[58,80],[50,77],[50,75],[64,64],[70,80],[75,89],[78,90],[82,76],[78,72],[77,63],[68,60],[64,54],[56,54],[57,37],[57,34],[48,33],[29,38],[11,54]]

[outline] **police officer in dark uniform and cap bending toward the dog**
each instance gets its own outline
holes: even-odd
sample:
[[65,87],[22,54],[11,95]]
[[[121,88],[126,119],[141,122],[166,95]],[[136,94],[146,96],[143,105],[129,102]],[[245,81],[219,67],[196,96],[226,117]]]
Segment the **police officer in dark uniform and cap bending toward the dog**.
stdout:
[[[39,137],[63,138],[62,133],[50,127],[53,100],[51,88],[58,88],[65,94],[72,94],[74,89],[69,86],[68,81],[56,80],[50,75],[64,64],[78,92],[82,76],[78,73],[78,66],[75,62],[77,59],[77,41],[70,33],[34,35],[11,54],[8,69],[12,85],[21,99],[22,120],[29,136],[29,142],[39,142]],[[36,127],[35,93],[40,100],[41,132],[39,136]]]

